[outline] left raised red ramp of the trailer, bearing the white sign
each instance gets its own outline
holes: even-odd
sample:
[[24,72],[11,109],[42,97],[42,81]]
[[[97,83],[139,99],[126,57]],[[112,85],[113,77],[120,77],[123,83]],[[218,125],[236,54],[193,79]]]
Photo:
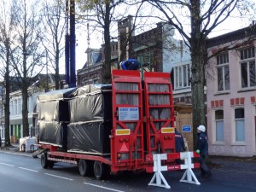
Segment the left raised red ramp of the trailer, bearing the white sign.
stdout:
[[[127,87],[125,84],[127,83]],[[121,85],[120,85],[121,84]],[[133,86],[129,86],[133,84]],[[122,89],[119,89],[120,86]],[[135,90],[132,88],[136,88]],[[118,97],[132,96],[137,103],[119,103]],[[113,70],[112,72],[113,130],[111,139],[112,172],[120,170],[137,170],[144,162],[143,139],[143,90],[142,80],[138,71]],[[137,120],[119,120],[119,108],[138,108]],[[133,123],[134,130],[127,124]],[[127,131],[129,130],[129,131]],[[125,134],[117,134],[124,131]],[[129,133],[128,133],[129,132]],[[122,158],[125,155],[125,158]]]

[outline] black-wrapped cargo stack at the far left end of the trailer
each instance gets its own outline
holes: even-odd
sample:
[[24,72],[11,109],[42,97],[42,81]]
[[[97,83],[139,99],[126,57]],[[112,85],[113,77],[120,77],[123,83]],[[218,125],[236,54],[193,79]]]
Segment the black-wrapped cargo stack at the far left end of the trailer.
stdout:
[[67,149],[68,100],[76,89],[52,90],[38,96],[39,143]]

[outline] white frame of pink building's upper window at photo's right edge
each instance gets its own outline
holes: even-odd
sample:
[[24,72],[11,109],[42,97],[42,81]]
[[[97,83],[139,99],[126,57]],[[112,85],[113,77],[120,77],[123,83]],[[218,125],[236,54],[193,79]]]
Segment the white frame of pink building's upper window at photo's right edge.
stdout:
[[[242,71],[241,71],[241,65],[246,64],[247,65],[247,86],[242,85]],[[255,62],[255,48],[254,47],[247,47],[245,49],[240,49],[240,77],[241,77],[241,89],[250,89],[256,87],[256,78],[254,79],[254,84],[251,85],[250,82],[250,65],[254,64],[254,76],[256,76],[256,62]],[[248,75],[249,74],[249,75]]]

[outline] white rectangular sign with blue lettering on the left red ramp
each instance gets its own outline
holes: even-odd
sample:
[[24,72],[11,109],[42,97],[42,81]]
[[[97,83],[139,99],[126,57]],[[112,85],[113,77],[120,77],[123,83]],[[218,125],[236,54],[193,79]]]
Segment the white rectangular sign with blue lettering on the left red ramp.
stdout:
[[119,108],[119,120],[138,120],[138,108]]

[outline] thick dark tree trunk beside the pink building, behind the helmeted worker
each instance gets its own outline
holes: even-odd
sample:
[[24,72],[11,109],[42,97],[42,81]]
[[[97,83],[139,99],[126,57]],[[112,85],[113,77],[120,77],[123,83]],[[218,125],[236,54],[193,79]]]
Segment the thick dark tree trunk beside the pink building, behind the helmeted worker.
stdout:
[[204,96],[204,55],[205,39],[201,35],[200,1],[191,0],[191,94],[193,111],[193,140],[196,149],[198,125],[206,125],[205,120],[205,96]]

